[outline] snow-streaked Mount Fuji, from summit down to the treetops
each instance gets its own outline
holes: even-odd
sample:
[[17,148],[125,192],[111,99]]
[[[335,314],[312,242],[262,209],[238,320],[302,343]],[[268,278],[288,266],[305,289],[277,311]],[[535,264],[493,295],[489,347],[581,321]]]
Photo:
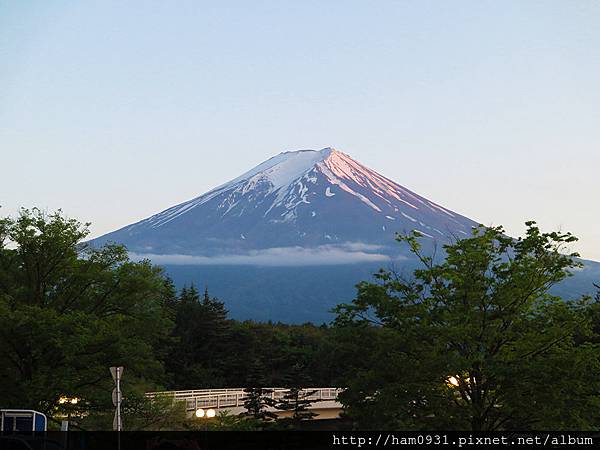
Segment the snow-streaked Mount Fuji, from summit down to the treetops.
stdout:
[[325,321],[380,267],[412,271],[397,232],[425,246],[477,222],[333,148],[280,153],[189,201],[91,241],[127,246],[178,285],[207,285],[235,318]]

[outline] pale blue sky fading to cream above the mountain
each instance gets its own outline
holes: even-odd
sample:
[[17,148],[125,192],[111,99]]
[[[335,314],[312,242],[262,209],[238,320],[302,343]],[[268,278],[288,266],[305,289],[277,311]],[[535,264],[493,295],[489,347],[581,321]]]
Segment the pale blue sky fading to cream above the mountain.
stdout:
[[600,260],[600,2],[0,0],[0,205],[94,236],[346,152]]

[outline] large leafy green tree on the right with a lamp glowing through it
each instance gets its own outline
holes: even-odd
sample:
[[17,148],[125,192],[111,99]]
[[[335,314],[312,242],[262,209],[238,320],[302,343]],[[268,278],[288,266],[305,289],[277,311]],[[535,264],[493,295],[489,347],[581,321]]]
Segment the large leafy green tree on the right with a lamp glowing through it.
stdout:
[[[381,271],[338,307],[347,329],[379,330],[342,402],[364,428],[594,429],[600,360],[591,299],[548,290],[580,264],[570,233],[524,238],[479,227],[436,262],[407,242],[423,268],[406,279]],[[364,343],[357,343],[357,345]]]

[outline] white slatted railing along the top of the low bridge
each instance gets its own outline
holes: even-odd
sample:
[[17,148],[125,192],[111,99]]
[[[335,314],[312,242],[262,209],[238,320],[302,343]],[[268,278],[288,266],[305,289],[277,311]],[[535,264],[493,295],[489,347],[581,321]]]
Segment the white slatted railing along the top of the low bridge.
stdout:
[[[264,388],[270,391],[267,395],[275,400],[280,400],[289,391],[287,388]],[[306,388],[303,393],[310,395],[303,397],[313,402],[318,401],[337,401],[337,396],[342,389],[338,388]],[[186,409],[194,411],[198,408],[235,408],[244,406],[248,394],[243,388],[237,389],[196,389],[191,391],[163,391],[148,392],[146,397],[155,398],[158,396],[172,397],[174,401],[186,402]]]

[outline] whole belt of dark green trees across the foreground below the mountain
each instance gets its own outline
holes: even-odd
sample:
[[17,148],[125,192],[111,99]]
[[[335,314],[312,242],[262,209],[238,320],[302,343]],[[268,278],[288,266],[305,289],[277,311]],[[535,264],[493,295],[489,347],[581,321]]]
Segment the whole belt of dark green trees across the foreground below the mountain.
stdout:
[[[311,417],[301,389],[330,386],[345,389],[345,423],[361,429],[600,423],[600,298],[549,294],[581,265],[569,233],[479,227],[437,257],[418,233],[399,236],[422,268],[382,270],[317,326],[232,320],[206,287],[178,290],[122,246],[85,244],[88,225],[37,209],[0,219],[0,407],[110,429],[108,368],[122,365],[129,429],[198,426],[145,392],[225,387],[247,388],[247,413],[211,427],[272,427],[267,407],[298,426]],[[289,391],[269,404],[269,387]]]

